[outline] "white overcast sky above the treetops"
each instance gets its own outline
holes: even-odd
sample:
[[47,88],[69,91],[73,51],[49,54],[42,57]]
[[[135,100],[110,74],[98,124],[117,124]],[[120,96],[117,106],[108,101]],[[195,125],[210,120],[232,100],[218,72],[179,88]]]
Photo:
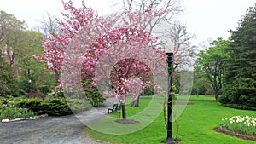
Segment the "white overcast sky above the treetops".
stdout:
[[[67,0],[65,0],[67,1]],[[114,0],[84,0],[100,15],[115,12]],[[81,0],[73,0],[80,6]],[[208,38],[230,37],[228,30],[235,30],[238,20],[246,14],[248,7],[253,7],[255,0],[181,0],[184,12],[180,20],[195,34],[195,43]],[[0,0],[0,10],[14,14],[19,20],[25,20],[30,28],[38,26],[42,15],[61,16],[61,0]]]

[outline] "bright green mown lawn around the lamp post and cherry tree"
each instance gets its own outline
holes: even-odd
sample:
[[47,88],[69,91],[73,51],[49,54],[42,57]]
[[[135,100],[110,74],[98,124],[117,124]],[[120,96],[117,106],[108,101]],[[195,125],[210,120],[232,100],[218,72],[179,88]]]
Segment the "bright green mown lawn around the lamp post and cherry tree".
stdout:
[[[180,98],[183,98],[182,96]],[[118,144],[157,144],[166,138],[166,126],[164,124],[163,112],[160,99],[154,99],[153,104],[149,98],[140,100],[140,107],[126,107],[128,117],[140,121],[138,124],[117,124],[115,119],[119,118],[119,112],[103,118],[100,122],[90,125],[85,129],[91,138],[101,141],[109,141]],[[156,101],[156,102],[155,102]],[[235,115],[249,115],[256,117],[255,111],[238,110],[230,107],[223,107],[214,101],[213,97],[191,96],[188,105],[181,117],[177,119],[179,133],[177,138],[182,141],[180,144],[254,144],[255,141],[241,140],[236,137],[215,132],[213,129],[218,127],[222,118],[230,118]],[[148,106],[150,108],[148,108]],[[147,107],[147,108],[145,108]],[[179,106],[180,107],[180,106]],[[149,109],[148,111],[145,109]],[[158,111],[157,111],[157,110]],[[150,118],[155,117],[154,113],[160,112],[159,117],[150,124]],[[136,117],[139,113],[139,117]],[[148,118],[147,118],[148,117]],[[148,124],[147,124],[148,123]],[[144,128],[143,128],[144,127]],[[141,128],[143,128],[141,130]],[[114,131],[115,130],[115,131]],[[135,132],[129,133],[135,130]],[[137,130],[137,131],[136,131]],[[99,132],[102,131],[103,133]],[[108,132],[109,134],[106,134]],[[110,135],[111,133],[127,133],[125,135]],[[173,137],[177,133],[176,125],[173,123]]]

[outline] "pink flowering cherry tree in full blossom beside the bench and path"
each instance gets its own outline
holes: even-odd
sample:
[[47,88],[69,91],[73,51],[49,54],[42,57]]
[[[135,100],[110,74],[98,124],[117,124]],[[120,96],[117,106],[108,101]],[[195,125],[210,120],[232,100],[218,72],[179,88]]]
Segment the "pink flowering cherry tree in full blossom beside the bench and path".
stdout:
[[[147,9],[99,17],[84,1],[79,9],[72,1],[63,6],[67,13],[59,20],[61,33],[45,39],[44,56],[34,57],[61,72],[59,86],[68,91],[97,88],[102,95],[116,96],[125,119],[125,97],[135,100],[147,86],[159,88],[156,80],[144,79],[166,74],[166,55],[147,30],[155,14]],[[86,88],[85,80],[90,80]]]

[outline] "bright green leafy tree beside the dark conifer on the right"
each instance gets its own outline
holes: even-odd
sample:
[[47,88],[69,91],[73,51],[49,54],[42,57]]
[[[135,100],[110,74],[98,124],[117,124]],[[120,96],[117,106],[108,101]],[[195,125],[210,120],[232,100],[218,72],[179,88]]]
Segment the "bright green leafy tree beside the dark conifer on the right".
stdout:
[[224,49],[229,47],[230,41],[218,38],[211,43],[211,47],[202,50],[195,61],[195,72],[201,73],[203,77],[212,84],[215,99],[218,100],[220,89],[224,79],[224,60],[229,58]]

